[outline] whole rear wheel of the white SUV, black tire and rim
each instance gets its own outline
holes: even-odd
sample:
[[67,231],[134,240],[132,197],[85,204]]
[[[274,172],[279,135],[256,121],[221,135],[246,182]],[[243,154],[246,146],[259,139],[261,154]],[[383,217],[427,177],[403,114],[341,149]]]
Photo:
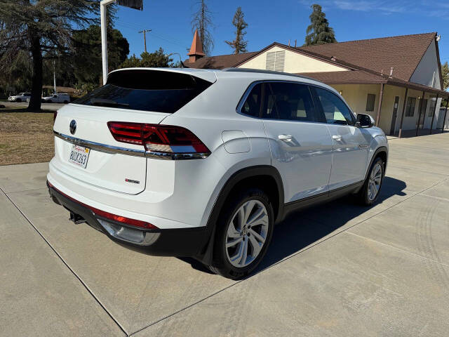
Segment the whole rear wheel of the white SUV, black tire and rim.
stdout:
[[209,269],[229,279],[246,277],[267,252],[273,227],[274,211],[267,194],[256,188],[234,194],[217,221]]

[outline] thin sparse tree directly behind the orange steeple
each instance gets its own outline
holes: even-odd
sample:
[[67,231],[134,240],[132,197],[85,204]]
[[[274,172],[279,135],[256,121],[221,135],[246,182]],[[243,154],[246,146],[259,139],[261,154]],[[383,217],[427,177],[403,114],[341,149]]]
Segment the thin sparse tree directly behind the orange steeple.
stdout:
[[203,52],[206,53],[206,55],[210,55],[214,46],[212,33],[210,32],[210,29],[213,27],[212,12],[209,11],[206,0],[198,1],[196,2],[196,5],[199,6],[199,8],[192,17],[192,33],[195,32],[195,29],[198,29]]

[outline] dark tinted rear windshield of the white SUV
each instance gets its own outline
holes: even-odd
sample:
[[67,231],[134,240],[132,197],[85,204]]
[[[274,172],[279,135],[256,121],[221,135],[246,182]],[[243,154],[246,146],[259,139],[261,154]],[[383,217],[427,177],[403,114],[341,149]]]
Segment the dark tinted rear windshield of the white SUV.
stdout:
[[119,107],[173,114],[212,83],[177,72],[122,70],[109,74],[107,84],[74,104]]

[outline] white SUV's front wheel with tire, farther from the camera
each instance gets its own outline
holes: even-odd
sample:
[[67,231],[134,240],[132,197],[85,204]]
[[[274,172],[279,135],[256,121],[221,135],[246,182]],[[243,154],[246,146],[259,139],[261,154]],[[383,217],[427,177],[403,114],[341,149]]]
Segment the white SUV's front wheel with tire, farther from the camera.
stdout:
[[357,199],[362,205],[371,206],[377,201],[384,182],[384,175],[385,163],[382,158],[377,157],[371,164],[365,183],[357,195]]

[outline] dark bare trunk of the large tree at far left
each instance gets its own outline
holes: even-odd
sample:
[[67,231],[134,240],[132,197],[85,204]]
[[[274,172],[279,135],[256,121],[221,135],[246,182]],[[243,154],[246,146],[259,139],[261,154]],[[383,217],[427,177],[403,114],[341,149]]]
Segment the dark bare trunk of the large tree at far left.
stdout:
[[41,111],[42,95],[42,51],[41,41],[36,34],[30,34],[31,54],[33,58],[33,77],[31,98],[29,99],[28,110],[32,112]]

